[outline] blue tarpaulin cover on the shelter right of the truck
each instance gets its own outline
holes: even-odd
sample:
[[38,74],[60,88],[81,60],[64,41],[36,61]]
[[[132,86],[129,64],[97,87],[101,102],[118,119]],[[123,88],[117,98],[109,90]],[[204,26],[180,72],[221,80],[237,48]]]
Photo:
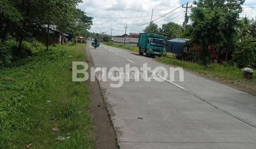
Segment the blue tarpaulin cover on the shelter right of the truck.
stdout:
[[184,38],[167,40],[166,51],[170,53],[182,55],[184,43],[187,42],[188,40],[189,39],[184,39]]

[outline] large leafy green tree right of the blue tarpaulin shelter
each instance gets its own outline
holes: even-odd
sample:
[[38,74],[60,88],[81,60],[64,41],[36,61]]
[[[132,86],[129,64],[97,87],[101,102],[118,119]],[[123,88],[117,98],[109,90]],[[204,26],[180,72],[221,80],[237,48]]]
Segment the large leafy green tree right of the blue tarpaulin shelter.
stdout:
[[[192,8],[192,43],[201,49],[203,64],[210,62],[210,45],[224,46],[226,55],[235,47],[239,13],[245,0],[199,0]],[[227,59],[227,57],[226,57]]]

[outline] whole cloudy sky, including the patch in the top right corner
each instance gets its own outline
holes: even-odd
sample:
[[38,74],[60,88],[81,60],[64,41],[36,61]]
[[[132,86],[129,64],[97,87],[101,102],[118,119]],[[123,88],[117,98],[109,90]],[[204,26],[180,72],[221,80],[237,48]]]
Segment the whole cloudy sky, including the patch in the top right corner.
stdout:
[[[192,0],[84,0],[78,5],[78,8],[86,13],[87,16],[93,17],[93,25],[89,32],[122,35],[125,33],[141,33],[151,19],[158,24],[159,27],[167,22],[175,22],[182,24],[185,16],[185,8],[180,7],[182,4]],[[184,5],[185,6],[185,5]],[[256,6],[256,0],[245,0],[242,7]],[[163,16],[164,14],[169,14]],[[188,14],[190,9],[188,9]],[[256,17],[256,7],[245,8],[241,17]],[[161,17],[163,16],[163,17]],[[123,18],[126,17],[126,18]],[[133,17],[133,18],[127,18]],[[160,18],[159,18],[160,17]],[[189,22],[190,23],[190,22]],[[144,25],[143,25],[144,24]]]

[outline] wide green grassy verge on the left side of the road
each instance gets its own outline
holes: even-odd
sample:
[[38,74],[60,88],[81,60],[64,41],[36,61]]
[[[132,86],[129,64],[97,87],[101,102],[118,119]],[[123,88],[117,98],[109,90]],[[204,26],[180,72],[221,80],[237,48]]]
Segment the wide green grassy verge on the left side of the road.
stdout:
[[0,68],[0,148],[96,147],[88,87],[70,71],[86,60],[85,44],[49,49]]

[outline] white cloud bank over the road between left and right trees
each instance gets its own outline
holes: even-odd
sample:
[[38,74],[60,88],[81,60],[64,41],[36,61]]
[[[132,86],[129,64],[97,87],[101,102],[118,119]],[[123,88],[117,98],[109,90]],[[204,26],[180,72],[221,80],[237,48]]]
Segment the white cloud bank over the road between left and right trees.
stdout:
[[[97,19],[97,18],[116,18],[116,17],[134,17],[134,16],[150,16],[152,9],[154,9],[153,15],[160,15],[170,12],[174,10],[178,6],[180,6],[179,0],[84,0],[82,4],[78,6],[79,9],[86,12],[87,16],[94,17],[93,26],[91,27],[90,32],[97,31],[107,32],[110,34],[110,28],[115,30],[124,29],[124,26],[128,26],[127,33],[130,32],[142,32],[145,28],[130,28],[132,26],[138,26],[140,24],[144,24],[150,22],[151,17],[141,17],[141,18],[122,18],[122,19]],[[174,12],[178,12],[182,10],[182,8],[177,9]],[[173,14],[169,14],[165,17],[162,17],[155,22],[158,22],[166,17],[169,17]],[[180,15],[180,16],[178,16]],[[182,24],[184,12],[177,13],[166,20],[158,22],[160,25],[166,21],[172,21]],[[158,18],[160,16],[153,16],[152,20]],[[146,26],[146,25],[144,25]],[[121,35],[124,34],[124,31],[115,31],[113,30],[113,35]]]

